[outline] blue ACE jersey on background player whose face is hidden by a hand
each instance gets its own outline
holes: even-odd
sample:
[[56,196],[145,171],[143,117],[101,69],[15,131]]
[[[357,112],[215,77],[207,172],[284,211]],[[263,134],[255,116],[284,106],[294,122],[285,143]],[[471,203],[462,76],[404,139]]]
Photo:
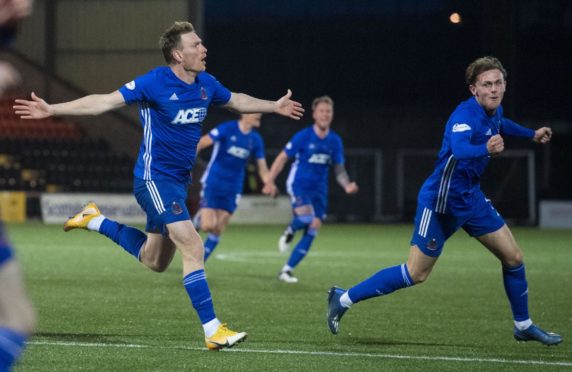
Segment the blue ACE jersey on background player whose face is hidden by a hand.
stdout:
[[262,137],[255,129],[242,132],[236,120],[220,124],[209,132],[209,136],[214,141],[214,147],[201,178],[203,188],[241,193],[248,159],[265,157]]

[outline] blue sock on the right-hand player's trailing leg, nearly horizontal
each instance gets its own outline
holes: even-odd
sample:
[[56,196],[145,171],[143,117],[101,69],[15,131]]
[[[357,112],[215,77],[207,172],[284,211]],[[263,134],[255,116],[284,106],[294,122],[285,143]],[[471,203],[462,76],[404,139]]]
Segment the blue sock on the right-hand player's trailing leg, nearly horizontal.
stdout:
[[367,300],[371,297],[390,294],[401,288],[414,285],[407,264],[385,268],[363,282],[348,290],[348,296],[353,303]]

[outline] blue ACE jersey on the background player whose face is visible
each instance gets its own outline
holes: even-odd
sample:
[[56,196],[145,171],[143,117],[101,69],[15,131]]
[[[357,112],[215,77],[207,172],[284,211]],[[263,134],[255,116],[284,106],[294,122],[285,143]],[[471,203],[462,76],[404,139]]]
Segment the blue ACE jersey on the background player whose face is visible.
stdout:
[[326,194],[330,166],[344,164],[342,139],[332,130],[320,138],[312,126],[304,128],[292,137],[284,151],[288,158],[295,157],[286,182],[290,194],[293,187]]

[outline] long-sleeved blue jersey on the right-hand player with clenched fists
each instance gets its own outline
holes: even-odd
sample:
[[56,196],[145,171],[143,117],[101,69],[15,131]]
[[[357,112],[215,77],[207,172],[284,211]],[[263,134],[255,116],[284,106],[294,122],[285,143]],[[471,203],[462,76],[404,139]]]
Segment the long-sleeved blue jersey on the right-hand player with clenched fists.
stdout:
[[502,106],[493,116],[474,97],[457,106],[445,126],[435,170],[419,191],[419,203],[437,213],[469,211],[490,160],[487,141],[495,134],[532,138],[534,131],[503,118]]

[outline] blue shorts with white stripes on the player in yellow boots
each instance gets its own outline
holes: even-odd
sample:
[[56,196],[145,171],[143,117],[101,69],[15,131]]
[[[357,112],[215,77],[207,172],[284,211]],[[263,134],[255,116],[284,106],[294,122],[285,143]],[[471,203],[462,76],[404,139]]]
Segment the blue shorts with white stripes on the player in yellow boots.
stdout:
[[135,178],[133,194],[147,214],[145,231],[167,235],[166,225],[190,220],[185,204],[187,184],[174,181],[144,181]]

